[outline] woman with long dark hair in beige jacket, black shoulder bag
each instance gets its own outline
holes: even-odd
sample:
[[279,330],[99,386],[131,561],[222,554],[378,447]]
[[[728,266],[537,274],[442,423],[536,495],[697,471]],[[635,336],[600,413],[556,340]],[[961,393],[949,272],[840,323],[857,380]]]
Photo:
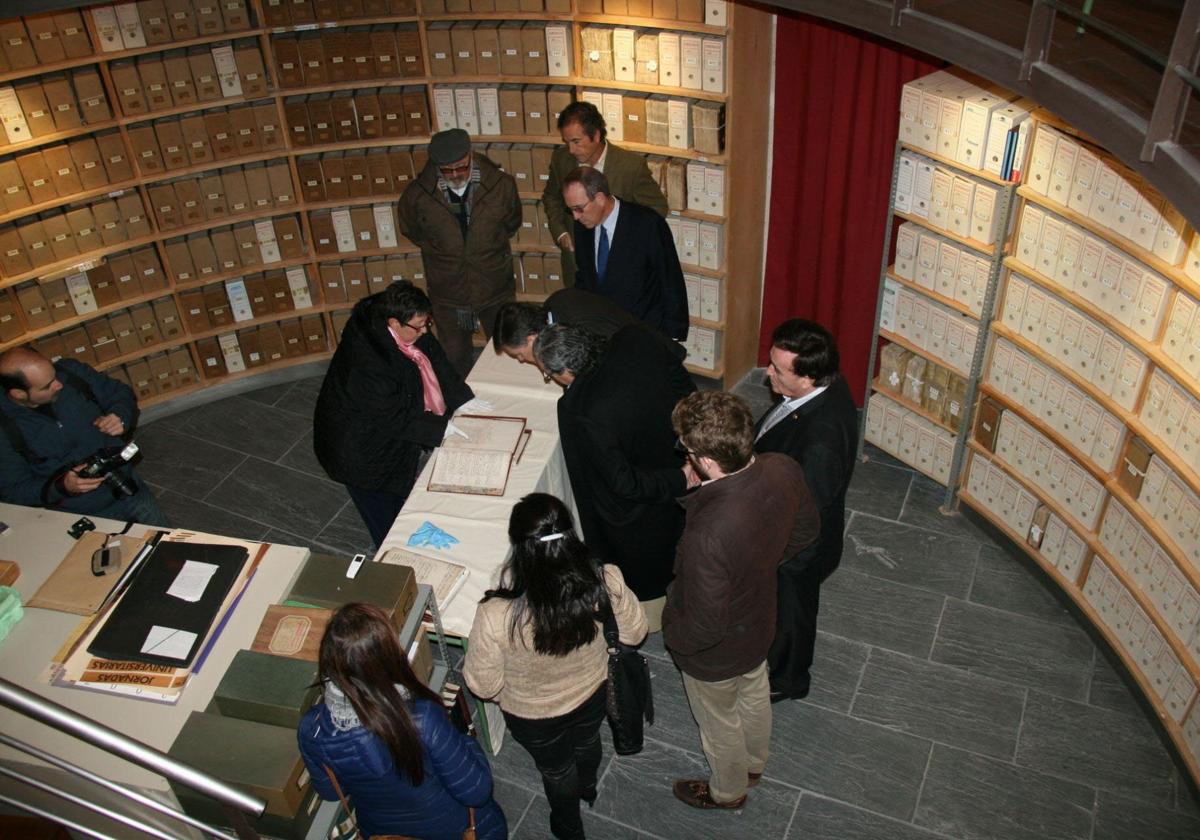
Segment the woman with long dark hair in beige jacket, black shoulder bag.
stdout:
[[575,535],[559,499],[530,493],[509,517],[512,550],[500,584],[484,594],[463,678],[494,700],[509,732],[538,766],[550,830],[583,838],[580,800],[596,798],[608,654],[600,608],[612,605],[620,641],[646,637],[646,613],[620,570],[601,565]]

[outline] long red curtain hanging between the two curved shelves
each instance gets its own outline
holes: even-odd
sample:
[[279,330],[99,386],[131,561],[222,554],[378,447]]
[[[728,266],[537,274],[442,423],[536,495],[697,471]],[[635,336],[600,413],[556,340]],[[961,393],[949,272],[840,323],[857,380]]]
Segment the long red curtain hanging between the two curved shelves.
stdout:
[[761,365],[776,324],[816,320],[838,340],[862,404],[900,90],[943,64],[814,18],[779,16]]

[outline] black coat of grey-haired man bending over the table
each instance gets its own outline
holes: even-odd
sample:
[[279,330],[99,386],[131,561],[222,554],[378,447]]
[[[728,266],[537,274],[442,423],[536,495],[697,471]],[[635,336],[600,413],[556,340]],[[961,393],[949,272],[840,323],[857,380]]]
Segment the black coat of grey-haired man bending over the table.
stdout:
[[618,330],[599,366],[558,401],[558,431],[583,539],[620,568],[638,600],[671,582],[686,491],[671,409],[696,390],[660,336],[643,324]]

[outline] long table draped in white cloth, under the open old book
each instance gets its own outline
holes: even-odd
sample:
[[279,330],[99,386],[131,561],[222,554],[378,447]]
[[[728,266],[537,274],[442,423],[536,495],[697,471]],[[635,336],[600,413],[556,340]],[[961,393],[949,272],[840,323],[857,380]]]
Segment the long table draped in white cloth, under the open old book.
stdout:
[[433,460],[425,464],[416,486],[384,539],[377,559],[390,548],[408,548],[408,538],[431,522],[458,539],[449,548],[408,548],[467,566],[469,574],[458,593],[442,605],[446,632],[466,636],[475,618],[475,606],[484,592],[496,586],[500,565],[509,552],[509,514],[527,493],[551,493],[565,500],[575,512],[566,463],[558,444],[558,397],[563,389],[544,383],[533,365],[522,365],[485,347],[467,377],[475,396],[492,403],[491,414],[526,418],[533,433],[521,461],[512,466],[504,496],[430,492]]

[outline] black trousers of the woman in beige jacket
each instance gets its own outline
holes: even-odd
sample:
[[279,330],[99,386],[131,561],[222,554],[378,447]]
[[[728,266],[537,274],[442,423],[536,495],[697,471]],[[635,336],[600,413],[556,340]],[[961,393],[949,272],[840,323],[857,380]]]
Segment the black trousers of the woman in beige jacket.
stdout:
[[541,773],[550,800],[550,832],[559,840],[582,840],[580,799],[595,800],[605,686],[601,684],[574,712],[557,718],[517,718],[504,713],[509,732],[533,756]]

